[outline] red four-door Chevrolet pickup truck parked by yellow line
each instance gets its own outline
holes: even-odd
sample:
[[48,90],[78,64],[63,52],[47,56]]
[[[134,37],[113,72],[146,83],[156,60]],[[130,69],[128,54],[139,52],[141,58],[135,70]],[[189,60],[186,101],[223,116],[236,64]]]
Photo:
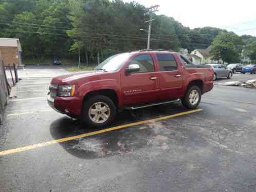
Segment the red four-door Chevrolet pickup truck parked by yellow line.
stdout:
[[138,109],[178,102],[196,108],[213,88],[213,69],[194,65],[179,53],[140,50],[116,54],[92,72],[51,80],[49,105],[71,118],[100,127],[115,119],[117,109]]

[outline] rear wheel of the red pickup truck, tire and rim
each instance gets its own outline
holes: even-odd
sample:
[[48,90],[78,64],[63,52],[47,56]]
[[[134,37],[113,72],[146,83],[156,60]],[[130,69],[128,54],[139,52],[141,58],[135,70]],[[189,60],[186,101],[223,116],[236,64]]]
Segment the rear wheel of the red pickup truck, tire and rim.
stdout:
[[[193,97],[193,93],[197,93],[197,96],[194,94]],[[194,109],[199,105],[201,101],[201,95],[202,92],[200,88],[196,85],[193,85],[188,88],[185,97],[181,99],[181,103],[188,109]]]

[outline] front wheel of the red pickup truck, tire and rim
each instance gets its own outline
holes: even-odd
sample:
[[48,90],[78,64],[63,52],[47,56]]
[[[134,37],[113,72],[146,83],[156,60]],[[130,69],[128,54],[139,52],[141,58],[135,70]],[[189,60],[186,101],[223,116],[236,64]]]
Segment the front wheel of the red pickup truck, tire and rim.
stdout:
[[114,121],[116,112],[111,99],[104,95],[94,95],[83,103],[81,119],[89,126],[102,127]]

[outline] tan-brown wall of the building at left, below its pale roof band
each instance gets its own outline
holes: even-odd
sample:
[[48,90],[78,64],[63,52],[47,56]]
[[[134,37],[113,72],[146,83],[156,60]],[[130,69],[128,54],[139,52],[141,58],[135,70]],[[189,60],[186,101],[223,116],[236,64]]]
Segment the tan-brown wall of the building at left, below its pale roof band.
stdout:
[[5,66],[19,65],[19,51],[17,47],[0,47]]

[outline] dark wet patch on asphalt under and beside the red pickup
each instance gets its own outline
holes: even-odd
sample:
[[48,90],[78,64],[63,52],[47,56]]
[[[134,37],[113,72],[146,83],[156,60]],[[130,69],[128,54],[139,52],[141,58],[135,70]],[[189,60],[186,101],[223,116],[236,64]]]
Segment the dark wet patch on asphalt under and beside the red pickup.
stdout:
[[[159,116],[167,116],[185,110],[178,105],[153,107],[138,111],[124,111],[117,117],[117,121],[111,127],[137,122],[145,119],[153,119]],[[175,112],[174,112],[175,110]],[[125,118],[124,118],[125,117]],[[107,128],[107,127],[105,127]],[[98,129],[82,127],[78,120],[64,117],[54,121],[50,126],[50,132],[54,139],[61,139],[80,135]],[[155,155],[167,150],[172,142],[180,142],[187,138],[185,129],[177,129],[177,124],[166,121],[150,122],[139,126],[124,128],[100,135],[80,138],[60,145],[71,155],[84,159],[103,158],[115,155],[129,155],[148,147],[154,150]]]

